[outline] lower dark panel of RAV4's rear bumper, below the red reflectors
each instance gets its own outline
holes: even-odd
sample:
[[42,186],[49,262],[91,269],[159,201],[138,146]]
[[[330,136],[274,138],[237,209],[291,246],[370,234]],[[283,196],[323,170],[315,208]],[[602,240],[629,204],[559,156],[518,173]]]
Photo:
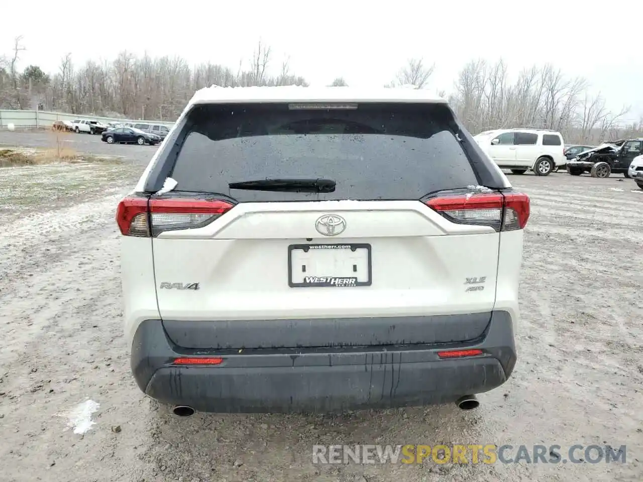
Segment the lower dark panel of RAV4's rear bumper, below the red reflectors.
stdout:
[[[374,358],[376,361],[374,362]],[[505,382],[493,357],[404,363],[401,354],[363,366],[161,368],[147,394],[172,405],[218,413],[332,412],[455,402]]]

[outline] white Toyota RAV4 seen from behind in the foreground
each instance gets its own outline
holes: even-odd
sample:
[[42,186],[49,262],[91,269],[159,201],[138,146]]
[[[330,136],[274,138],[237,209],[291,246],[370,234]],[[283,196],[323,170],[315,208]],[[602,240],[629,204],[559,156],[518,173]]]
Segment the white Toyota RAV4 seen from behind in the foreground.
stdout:
[[516,361],[529,197],[412,89],[195,93],[118,205],[140,389],[177,415],[457,402]]

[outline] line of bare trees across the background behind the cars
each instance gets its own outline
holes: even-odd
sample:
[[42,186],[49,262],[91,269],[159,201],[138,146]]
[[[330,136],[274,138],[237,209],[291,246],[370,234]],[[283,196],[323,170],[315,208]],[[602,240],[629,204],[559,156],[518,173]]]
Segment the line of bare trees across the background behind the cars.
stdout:
[[[71,54],[60,59],[58,70],[44,73],[38,66],[19,69],[26,50],[17,37],[10,53],[0,56],[0,108],[35,109],[150,120],[175,120],[197,89],[210,85],[308,85],[291,71],[288,60],[275,62],[271,48],[257,48],[237,69],[205,62],[190,66],[185,58],[136,56],[121,52],[113,61],[89,60],[80,66]],[[385,87],[431,87],[435,64],[406,61]],[[341,76],[333,86],[347,85]],[[503,60],[471,60],[460,72],[448,98],[458,117],[473,134],[508,127],[554,129],[566,143],[643,136],[643,117],[622,120],[628,106],[608,109],[601,93],[592,94],[583,77],[566,76],[547,64],[532,66],[510,80]]]

